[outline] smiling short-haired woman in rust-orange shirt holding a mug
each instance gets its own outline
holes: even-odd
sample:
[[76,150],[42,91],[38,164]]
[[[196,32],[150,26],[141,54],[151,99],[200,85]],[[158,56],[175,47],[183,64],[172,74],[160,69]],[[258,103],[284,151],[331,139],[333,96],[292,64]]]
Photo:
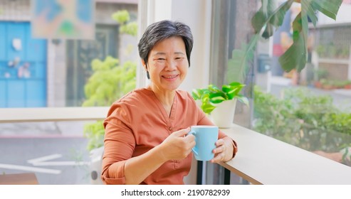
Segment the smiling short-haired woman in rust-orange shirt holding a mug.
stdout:
[[[184,184],[192,164],[193,125],[214,125],[188,92],[177,90],[187,76],[193,38],[174,21],[151,24],[138,44],[150,85],[129,92],[105,119],[105,184]],[[236,143],[222,131],[212,163],[229,161]]]

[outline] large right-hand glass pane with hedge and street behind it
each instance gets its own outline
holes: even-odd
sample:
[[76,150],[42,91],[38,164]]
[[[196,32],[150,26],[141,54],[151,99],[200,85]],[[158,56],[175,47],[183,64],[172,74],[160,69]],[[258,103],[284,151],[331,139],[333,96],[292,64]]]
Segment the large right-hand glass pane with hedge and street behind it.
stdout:
[[[251,108],[237,104],[234,123],[351,166],[350,1],[343,1],[336,21],[318,12],[313,26],[308,18],[308,60],[301,72],[285,72],[278,60],[293,42],[300,4],[291,6],[273,36],[258,39],[252,54],[244,51],[260,7],[261,1],[214,1],[210,82],[246,84],[242,93]],[[249,57],[246,72],[236,67],[241,55]]]

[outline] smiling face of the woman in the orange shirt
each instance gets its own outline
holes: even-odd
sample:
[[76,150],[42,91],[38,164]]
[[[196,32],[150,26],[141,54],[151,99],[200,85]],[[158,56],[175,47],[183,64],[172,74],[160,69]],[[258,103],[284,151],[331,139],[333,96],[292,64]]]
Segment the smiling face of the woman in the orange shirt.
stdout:
[[150,50],[147,60],[152,87],[167,92],[177,90],[187,76],[189,62],[181,37],[159,41]]

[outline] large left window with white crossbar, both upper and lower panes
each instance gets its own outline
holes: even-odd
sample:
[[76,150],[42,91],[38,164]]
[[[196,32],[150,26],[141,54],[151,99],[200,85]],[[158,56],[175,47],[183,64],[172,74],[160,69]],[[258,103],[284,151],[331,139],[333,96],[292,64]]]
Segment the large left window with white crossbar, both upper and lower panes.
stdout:
[[[136,21],[137,1],[96,1],[95,40],[33,38],[30,6],[29,0],[0,2],[0,145],[6,151],[0,172],[33,172],[40,184],[88,184],[91,139],[83,131],[111,102],[89,101],[85,85],[95,59],[136,65],[137,38],[120,33],[123,25],[112,14],[126,10],[129,22]],[[10,116],[18,110],[20,117]],[[16,122],[4,122],[9,118]]]

